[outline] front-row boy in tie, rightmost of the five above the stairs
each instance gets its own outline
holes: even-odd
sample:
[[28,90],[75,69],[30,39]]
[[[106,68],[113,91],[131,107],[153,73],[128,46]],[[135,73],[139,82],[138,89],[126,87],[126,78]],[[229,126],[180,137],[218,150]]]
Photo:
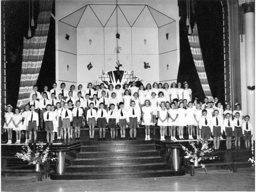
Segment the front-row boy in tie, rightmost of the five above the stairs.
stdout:
[[[130,128],[130,140],[136,140],[136,128],[140,121],[140,114],[137,108],[135,108],[135,101],[131,101],[131,108],[127,111],[126,121]],[[133,132],[133,138],[132,138]]]

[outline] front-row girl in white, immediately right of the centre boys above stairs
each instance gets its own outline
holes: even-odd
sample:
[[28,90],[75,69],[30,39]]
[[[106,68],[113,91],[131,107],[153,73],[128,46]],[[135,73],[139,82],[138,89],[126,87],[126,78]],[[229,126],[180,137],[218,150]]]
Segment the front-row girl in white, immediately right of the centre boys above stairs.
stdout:
[[142,125],[145,125],[145,140],[150,139],[150,125],[152,125],[153,109],[150,107],[150,101],[145,100],[144,107],[142,107]]

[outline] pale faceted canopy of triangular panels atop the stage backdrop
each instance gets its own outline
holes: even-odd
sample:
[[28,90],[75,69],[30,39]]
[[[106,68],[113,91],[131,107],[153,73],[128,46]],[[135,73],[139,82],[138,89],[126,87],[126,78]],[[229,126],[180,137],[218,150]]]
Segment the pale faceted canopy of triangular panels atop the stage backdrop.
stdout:
[[175,20],[148,5],[92,4],[60,21],[76,28],[157,28]]

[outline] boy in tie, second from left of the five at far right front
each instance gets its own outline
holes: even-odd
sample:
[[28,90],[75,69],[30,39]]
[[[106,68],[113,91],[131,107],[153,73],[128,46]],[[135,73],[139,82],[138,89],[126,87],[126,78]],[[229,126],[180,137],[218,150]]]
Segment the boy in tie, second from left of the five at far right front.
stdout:
[[[214,117],[211,119],[211,132],[213,136],[213,145],[215,149],[220,147],[220,135],[223,135],[223,120],[219,117],[219,111],[217,109],[213,112]],[[217,145],[216,145],[217,139]]]

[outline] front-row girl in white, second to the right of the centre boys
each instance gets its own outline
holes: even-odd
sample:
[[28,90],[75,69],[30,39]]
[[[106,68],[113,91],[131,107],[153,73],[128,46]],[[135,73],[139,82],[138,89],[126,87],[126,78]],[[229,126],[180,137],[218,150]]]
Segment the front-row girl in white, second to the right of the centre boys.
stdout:
[[160,129],[160,136],[161,139],[160,140],[165,140],[164,139],[164,128],[168,125],[167,123],[167,118],[168,118],[168,111],[166,110],[166,108],[164,108],[165,102],[161,102],[160,106],[161,109],[158,111],[158,121],[157,121],[157,125],[159,126]]

